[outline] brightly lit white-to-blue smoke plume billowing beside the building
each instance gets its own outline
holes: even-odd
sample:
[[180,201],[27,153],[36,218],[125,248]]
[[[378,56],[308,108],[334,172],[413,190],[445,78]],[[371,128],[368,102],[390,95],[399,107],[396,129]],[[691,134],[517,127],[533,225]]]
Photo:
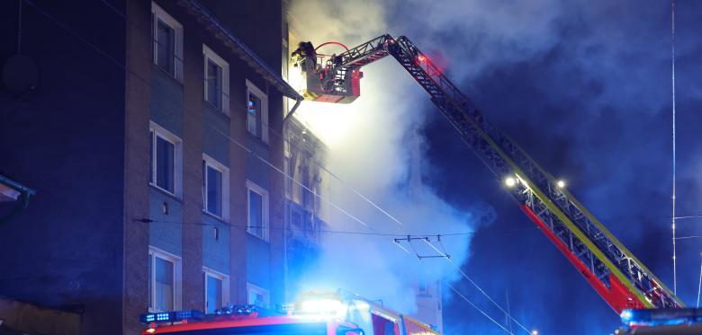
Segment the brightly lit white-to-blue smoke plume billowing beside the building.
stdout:
[[[386,25],[392,4],[377,1],[297,1],[289,22],[294,38],[313,44],[336,40],[353,47],[390,31]],[[320,50],[339,53],[343,49]],[[291,77],[295,69],[291,70]],[[381,299],[402,313],[417,312],[414,287],[419,280],[434,284],[455,280],[457,271],[441,258],[446,252],[456,264],[469,256],[470,234],[400,242],[384,234],[471,233],[494,219],[491,207],[459,210],[422,185],[430,173],[425,140],[418,129],[425,121],[427,93],[392,58],[363,68],[361,96],[349,105],[302,102],[296,117],[329,146],[325,162],[347,185],[373,199],[391,217],[359,198],[329,175],[325,197],[365,225],[334,208],[325,208],[331,231],[369,234],[323,234],[320,260],[303,278],[303,289],[337,289]],[[291,78],[293,83],[295,80]],[[470,207],[470,206],[466,206]],[[367,225],[367,226],[366,226]],[[435,250],[437,248],[439,251]]]

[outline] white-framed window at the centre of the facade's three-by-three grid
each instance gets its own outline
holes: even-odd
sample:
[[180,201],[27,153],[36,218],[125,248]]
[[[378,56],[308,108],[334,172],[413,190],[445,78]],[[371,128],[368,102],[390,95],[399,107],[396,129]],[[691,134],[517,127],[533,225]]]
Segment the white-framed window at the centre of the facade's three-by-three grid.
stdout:
[[229,219],[229,169],[202,154],[202,210]]

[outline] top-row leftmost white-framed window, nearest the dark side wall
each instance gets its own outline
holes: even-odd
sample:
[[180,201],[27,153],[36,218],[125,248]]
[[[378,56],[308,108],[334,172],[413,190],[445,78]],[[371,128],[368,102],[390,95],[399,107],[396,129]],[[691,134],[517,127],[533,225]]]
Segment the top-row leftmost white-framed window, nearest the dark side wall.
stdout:
[[183,26],[155,3],[151,3],[154,64],[183,81]]

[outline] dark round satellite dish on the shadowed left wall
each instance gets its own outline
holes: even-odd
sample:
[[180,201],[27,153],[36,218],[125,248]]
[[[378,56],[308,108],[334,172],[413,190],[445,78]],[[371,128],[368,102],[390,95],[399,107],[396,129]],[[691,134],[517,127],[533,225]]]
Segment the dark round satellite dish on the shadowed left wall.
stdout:
[[27,97],[39,86],[39,67],[24,55],[14,55],[4,62],[3,84],[10,93]]

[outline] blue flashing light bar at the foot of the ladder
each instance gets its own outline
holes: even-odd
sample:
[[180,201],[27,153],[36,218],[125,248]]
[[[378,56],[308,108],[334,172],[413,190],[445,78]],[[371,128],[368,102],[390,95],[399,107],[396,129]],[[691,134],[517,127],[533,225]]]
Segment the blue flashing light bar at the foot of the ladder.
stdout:
[[626,309],[619,316],[629,327],[662,326],[702,322],[700,308]]

